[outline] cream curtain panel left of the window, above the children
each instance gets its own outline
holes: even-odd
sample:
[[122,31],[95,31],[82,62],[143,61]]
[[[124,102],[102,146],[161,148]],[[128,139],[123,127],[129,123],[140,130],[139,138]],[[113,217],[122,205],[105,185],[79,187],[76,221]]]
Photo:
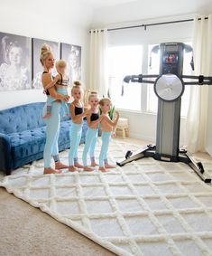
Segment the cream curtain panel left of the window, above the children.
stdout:
[[107,29],[90,31],[89,89],[97,90],[99,96],[107,96],[106,75]]

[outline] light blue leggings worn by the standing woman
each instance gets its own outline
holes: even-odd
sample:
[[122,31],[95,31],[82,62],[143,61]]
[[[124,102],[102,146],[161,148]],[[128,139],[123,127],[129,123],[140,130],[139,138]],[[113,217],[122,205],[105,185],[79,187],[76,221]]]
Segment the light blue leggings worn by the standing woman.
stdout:
[[[51,156],[59,160],[58,137],[60,133],[60,107],[59,102],[52,103],[51,117],[44,119],[46,123],[46,144],[43,151],[44,167],[51,167]],[[43,109],[43,116],[46,113],[47,104]]]

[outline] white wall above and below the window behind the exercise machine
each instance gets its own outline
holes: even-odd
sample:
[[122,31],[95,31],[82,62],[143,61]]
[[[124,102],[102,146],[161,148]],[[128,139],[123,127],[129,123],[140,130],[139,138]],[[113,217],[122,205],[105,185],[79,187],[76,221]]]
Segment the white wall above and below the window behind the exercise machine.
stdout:
[[[183,17],[186,18],[186,17]],[[177,17],[180,19],[180,17]],[[175,17],[175,20],[177,20]],[[152,24],[158,21],[148,21]],[[143,22],[146,24],[145,22]],[[140,24],[143,24],[140,23]],[[134,28],[126,30],[111,31],[108,33],[108,43],[112,45],[132,45],[143,43],[165,43],[165,42],[190,42],[192,36],[193,23],[167,24],[143,28]],[[147,63],[146,63],[147,64]],[[143,66],[143,74],[147,74],[147,65]],[[127,75],[127,74],[126,74]],[[130,75],[130,74],[129,74]],[[127,104],[130,102],[127,102]],[[156,119],[155,114],[146,112],[135,112],[129,110],[121,110],[121,116],[129,119],[131,137],[139,137],[145,140],[155,141],[156,137]],[[180,123],[180,146],[186,142],[186,120],[181,119]]]

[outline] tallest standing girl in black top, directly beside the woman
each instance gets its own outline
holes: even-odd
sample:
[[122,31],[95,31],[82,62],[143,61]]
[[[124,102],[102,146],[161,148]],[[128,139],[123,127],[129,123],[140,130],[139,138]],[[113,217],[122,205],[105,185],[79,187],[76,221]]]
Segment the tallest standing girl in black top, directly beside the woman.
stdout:
[[82,134],[83,118],[88,114],[88,110],[84,111],[82,103],[82,88],[79,81],[74,82],[71,89],[73,102],[70,104],[71,126],[69,130],[70,149],[69,149],[69,172],[74,172],[78,168],[83,168],[78,163],[78,145]]

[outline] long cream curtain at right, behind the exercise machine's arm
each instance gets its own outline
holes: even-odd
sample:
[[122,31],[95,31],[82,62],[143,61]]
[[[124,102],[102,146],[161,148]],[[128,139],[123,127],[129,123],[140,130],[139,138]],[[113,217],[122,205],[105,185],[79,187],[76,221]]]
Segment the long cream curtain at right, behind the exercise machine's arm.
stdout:
[[[201,18],[199,20],[199,18]],[[194,74],[212,75],[212,23],[211,14],[208,19],[198,16],[194,19],[193,49]],[[187,116],[187,145],[192,153],[206,150],[206,134],[208,117],[208,90],[207,86],[191,86],[189,110]]]

